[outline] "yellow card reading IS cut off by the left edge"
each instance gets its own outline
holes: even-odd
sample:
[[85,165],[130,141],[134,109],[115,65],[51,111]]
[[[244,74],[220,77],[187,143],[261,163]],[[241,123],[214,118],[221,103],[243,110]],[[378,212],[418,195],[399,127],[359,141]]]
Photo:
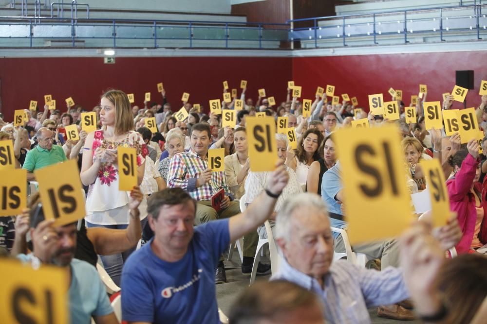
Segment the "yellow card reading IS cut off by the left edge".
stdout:
[[[0,152],[2,148],[4,147],[0,146]],[[1,159],[4,158],[2,158],[2,153],[0,153],[0,163]],[[27,207],[27,170],[14,169],[15,166],[14,168],[4,168],[2,165],[0,165],[0,168],[0,216],[18,215],[22,213],[22,209]]]

